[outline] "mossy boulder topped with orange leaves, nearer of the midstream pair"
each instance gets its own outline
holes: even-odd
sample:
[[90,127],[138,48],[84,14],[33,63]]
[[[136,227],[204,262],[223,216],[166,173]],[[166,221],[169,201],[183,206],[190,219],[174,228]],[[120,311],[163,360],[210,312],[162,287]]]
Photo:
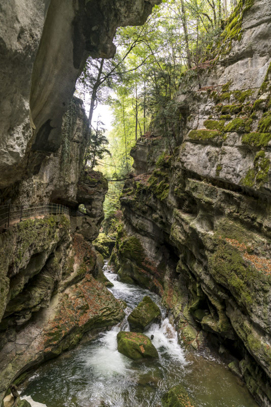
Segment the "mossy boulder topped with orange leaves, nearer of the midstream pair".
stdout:
[[120,331],[117,341],[118,351],[130,359],[158,358],[151,340],[142,333]]

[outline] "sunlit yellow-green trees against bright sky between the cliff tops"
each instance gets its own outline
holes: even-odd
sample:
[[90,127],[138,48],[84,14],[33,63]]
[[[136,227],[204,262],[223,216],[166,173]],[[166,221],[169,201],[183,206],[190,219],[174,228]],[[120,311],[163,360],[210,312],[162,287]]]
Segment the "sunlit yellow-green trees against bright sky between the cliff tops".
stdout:
[[[132,166],[129,151],[147,131],[167,137],[172,153],[180,133],[174,99],[180,78],[184,71],[197,71],[200,63],[215,59],[234,6],[235,0],[163,0],[143,26],[117,30],[114,59],[88,59],[78,80],[78,90],[90,106],[85,164],[96,165],[108,179],[125,178]],[[92,126],[97,104],[109,105],[113,114],[106,135]],[[111,189],[119,193],[121,184]]]

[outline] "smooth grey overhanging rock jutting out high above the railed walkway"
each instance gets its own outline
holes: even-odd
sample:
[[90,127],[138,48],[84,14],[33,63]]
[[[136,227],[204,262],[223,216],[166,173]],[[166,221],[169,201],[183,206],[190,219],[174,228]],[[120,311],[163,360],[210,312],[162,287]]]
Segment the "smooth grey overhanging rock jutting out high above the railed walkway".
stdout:
[[62,117],[90,54],[112,57],[120,25],[160,0],[5,0],[0,9],[0,187],[36,174],[61,143]]

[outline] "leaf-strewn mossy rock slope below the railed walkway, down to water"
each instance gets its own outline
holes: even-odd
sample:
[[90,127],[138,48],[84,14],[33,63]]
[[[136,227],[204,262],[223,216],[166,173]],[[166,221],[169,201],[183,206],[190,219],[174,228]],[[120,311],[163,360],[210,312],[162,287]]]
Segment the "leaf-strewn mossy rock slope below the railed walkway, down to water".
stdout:
[[[94,279],[96,254],[69,217],[26,220],[1,239],[0,399],[22,373],[74,347],[83,334],[124,317]],[[17,380],[17,381],[16,381]]]

